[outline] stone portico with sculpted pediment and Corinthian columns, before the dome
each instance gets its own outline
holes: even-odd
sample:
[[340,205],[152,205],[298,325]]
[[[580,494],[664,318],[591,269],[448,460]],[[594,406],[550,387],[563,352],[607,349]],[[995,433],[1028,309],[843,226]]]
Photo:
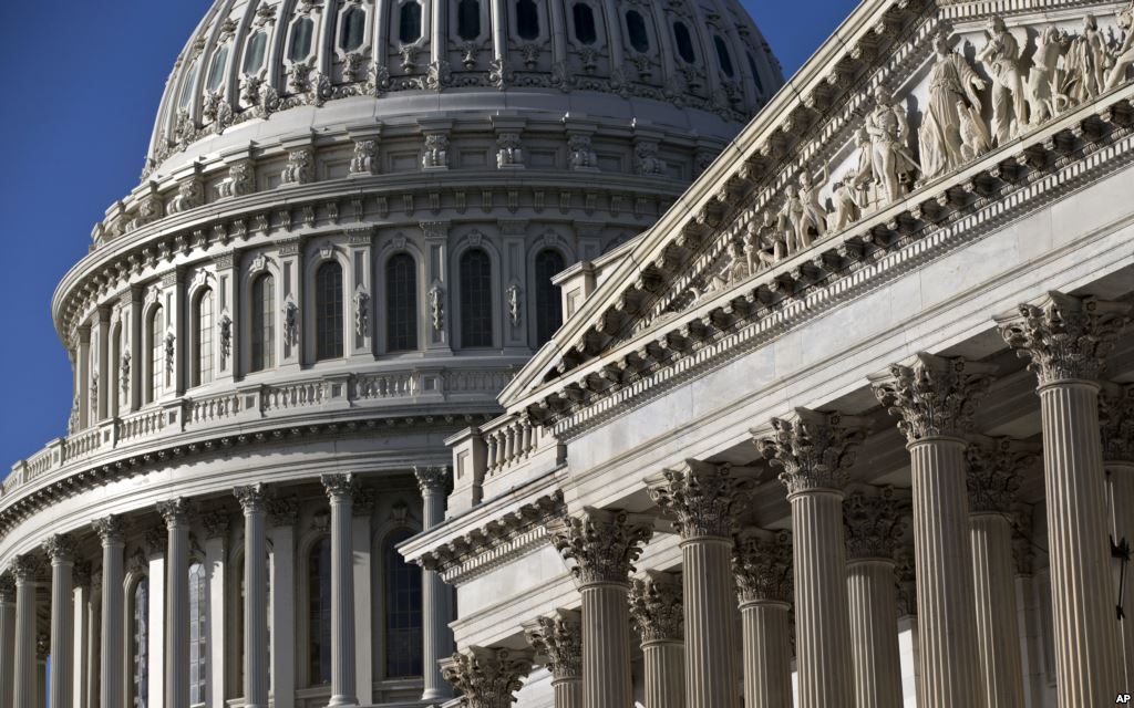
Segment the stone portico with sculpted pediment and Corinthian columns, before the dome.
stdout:
[[560,275],[400,545],[456,587],[465,706],[1129,700],[1132,29],[866,0]]

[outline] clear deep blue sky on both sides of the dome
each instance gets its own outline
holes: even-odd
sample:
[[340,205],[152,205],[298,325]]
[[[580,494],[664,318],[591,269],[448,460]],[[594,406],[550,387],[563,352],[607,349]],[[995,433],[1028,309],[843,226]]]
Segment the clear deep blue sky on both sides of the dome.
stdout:
[[[71,374],[51,324],[56,283],[93,224],[137,185],[177,52],[211,0],[9,2],[0,24],[5,302],[0,476],[66,432]],[[744,0],[787,75],[853,0]]]

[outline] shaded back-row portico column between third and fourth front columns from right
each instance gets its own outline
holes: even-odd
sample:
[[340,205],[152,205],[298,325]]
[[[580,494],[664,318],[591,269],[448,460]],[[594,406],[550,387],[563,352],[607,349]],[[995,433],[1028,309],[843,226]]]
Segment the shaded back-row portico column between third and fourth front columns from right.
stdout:
[[746,529],[736,539],[733,573],[744,631],[744,706],[792,708],[790,534]]

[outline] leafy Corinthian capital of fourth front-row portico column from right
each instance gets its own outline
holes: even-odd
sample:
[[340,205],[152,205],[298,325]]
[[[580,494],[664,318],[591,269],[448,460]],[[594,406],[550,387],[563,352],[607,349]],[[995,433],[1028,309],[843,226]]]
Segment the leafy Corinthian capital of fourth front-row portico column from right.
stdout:
[[685,460],[645,480],[650,498],[675,519],[682,538],[730,538],[737,515],[747,506],[754,479],[733,476],[727,462]]

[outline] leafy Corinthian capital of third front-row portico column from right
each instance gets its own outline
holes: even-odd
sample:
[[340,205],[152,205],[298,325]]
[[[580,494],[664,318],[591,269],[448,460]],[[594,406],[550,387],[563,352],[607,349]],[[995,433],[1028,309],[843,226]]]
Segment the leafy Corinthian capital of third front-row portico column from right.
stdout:
[[865,437],[861,418],[839,412],[796,408],[792,417],[772,418],[775,433],[758,438],[756,446],[772,467],[788,496],[804,492],[843,492],[855,449]]

